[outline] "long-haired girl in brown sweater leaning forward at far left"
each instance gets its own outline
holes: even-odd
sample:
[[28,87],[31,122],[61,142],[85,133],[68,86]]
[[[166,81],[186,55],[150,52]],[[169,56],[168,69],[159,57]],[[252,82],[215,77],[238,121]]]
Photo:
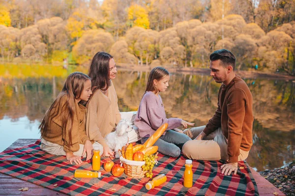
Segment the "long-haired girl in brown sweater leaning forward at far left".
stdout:
[[[91,158],[94,141],[85,131],[85,105],[91,92],[91,80],[80,72],[71,73],[40,124],[40,148],[50,154],[65,155],[72,164],[81,164],[81,156]],[[84,104],[82,104],[84,103]],[[94,146],[101,145],[93,144]]]

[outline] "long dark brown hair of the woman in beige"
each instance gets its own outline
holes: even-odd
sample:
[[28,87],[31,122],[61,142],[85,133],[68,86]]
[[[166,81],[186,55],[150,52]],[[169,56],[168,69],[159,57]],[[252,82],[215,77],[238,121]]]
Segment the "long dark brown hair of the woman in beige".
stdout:
[[[91,77],[92,96],[98,89],[106,91],[110,85],[110,59],[113,56],[107,52],[97,52],[89,67],[89,77]],[[92,97],[91,96],[91,97]]]

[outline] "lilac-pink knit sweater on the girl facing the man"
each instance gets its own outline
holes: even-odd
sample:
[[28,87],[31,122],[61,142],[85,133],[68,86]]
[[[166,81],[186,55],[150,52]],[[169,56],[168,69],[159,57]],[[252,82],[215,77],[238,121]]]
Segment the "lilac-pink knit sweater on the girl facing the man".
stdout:
[[161,96],[157,97],[153,92],[148,91],[140,102],[134,124],[139,129],[140,137],[149,137],[163,123],[168,123],[167,130],[169,130],[180,126],[181,121],[177,118],[167,119]]

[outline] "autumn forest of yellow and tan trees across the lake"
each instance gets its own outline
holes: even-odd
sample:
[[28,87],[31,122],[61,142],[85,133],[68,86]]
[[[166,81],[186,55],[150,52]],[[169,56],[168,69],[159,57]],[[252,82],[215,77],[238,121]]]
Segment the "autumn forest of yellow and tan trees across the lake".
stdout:
[[204,68],[230,49],[237,69],[295,74],[295,0],[0,0],[0,57],[89,65]]

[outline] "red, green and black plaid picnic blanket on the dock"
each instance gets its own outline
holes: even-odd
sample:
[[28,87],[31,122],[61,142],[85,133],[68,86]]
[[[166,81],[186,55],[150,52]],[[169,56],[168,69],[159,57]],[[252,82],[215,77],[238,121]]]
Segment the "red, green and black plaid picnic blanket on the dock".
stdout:
[[[236,175],[221,174],[221,162],[193,161],[193,187],[183,187],[185,157],[178,158],[159,154],[154,176],[164,173],[167,182],[147,190],[149,178],[134,179],[124,173],[114,177],[101,167],[101,178],[75,178],[76,169],[91,170],[90,161],[82,165],[70,165],[65,156],[43,152],[40,140],[27,147],[0,153],[0,172],[68,195],[259,195],[255,180],[245,162],[239,163]],[[109,159],[109,158],[107,158]],[[106,159],[101,160],[101,164]],[[116,162],[119,162],[117,160]]]

